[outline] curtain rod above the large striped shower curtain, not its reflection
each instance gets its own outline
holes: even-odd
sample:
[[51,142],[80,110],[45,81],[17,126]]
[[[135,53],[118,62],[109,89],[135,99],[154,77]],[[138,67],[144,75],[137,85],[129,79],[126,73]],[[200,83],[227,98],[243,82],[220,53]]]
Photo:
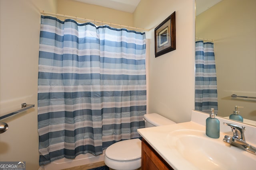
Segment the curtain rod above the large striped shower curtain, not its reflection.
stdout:
[[43,14],[43,15],[48,14],[48,15],[52,15],[52,16],[60,16],[60,17],[64,17],[64,18],[71,18],[71,19],[74,19],[74,20],[96,22],[96,23],[102,23],[102,24],[107,24],[107,25],[115,25],[115,26],[119,26],[119,27],[126,27],[126,28],[131,28],[131,29],[149,31],[149,29],[144,29],[144,28],[130,27],[130,26],[120,25],[120,24],[111,23],[111,22],[109,23],[109,22],[103,22],[103,21],[89,20],[89,19],[86,19],[86,18],[79,18],[79,17],[76,17],[76,16],[68,16],[68,15],[57,14],[57,13],[52,13],[52,12],[40,11],[40,13]]

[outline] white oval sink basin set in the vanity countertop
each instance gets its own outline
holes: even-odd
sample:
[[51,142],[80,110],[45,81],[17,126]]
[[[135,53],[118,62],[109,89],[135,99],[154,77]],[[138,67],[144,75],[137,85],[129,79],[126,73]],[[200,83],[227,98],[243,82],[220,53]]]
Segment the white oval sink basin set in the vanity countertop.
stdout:
[[176,130],[167,135],[167,142],[173,154],[181,156],[196,169],[235,170],[254,169],[256,155],[224,143],[224,134],[219,139],[205,135],[205,131]]

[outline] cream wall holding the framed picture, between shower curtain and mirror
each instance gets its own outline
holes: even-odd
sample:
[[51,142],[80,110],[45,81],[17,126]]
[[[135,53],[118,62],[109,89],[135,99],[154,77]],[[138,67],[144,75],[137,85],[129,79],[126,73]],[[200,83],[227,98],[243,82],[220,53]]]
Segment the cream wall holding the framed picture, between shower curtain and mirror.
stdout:
[[[155,58],[154,28],[176,11],[176,50]],[[148,113],[159,113],[178,123],[190,121],[194,109],[194,0],[141,0],[134,27],[151,29]]]

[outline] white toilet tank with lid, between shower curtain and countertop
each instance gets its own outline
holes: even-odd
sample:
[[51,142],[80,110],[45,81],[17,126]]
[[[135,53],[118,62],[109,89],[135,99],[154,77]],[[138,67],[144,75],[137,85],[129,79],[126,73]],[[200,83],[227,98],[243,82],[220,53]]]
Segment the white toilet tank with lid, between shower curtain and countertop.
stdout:
[[175,124],[174,121],[167,119],[157,113],[149,113],[144,115],[145,127],[154,127],[162,125]]

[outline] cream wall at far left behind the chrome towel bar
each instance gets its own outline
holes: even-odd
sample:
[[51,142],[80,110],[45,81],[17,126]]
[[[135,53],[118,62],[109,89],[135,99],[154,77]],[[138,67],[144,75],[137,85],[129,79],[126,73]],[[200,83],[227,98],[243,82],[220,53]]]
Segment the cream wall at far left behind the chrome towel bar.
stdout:
[[0,116],[35,104],[33,109],[0,120],[0,161],[26,161],[39,168],[37,78],[40,10],[56,12],[55,0],[0,0]]

